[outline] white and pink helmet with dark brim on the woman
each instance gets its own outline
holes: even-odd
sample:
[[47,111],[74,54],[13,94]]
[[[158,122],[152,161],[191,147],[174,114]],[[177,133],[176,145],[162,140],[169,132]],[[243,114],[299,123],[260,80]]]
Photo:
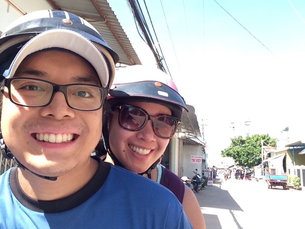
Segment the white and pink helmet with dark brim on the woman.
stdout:
[[169,107],[172,115],[180,120],[182,108],[188,111],[170,76],[160,69],[143,65],[121,67],[116,71],[107,100],[110,104],[127,101],[162,104]]

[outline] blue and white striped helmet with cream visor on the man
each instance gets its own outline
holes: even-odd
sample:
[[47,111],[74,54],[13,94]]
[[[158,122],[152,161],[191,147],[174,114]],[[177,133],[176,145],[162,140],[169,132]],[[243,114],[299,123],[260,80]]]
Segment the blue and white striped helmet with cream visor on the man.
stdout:
[[112,84],[117,53],[99,32],[81,17],[60,10],[40,10],[10,24],[0,36],[0,81],[13,77],[21,61],[31,53],[49,49],[70,50],[97,71],[103,87]]

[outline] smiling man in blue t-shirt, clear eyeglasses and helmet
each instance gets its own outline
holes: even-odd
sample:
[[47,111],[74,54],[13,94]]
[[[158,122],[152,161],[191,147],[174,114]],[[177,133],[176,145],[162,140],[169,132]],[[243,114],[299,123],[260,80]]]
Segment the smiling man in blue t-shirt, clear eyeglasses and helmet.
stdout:
[[1,151],[18,168],[0,176],[0,228],[192,228],[172,193],[90,157],[117,61],[63,11],[27,14],[1,35]]

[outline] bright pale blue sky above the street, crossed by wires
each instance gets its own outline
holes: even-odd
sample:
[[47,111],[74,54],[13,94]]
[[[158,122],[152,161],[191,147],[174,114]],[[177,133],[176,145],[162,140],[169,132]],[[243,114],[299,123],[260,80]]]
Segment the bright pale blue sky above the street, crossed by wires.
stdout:
[[[108,2],[141,54],[127,3]],[[230,144],[231,122],[238,134],[251,121],[250,134],[278,138],[286,126],[304,125],[305,1],[216,2],[146,0],[172,78],[204,120],[207,149],[219,154]]]

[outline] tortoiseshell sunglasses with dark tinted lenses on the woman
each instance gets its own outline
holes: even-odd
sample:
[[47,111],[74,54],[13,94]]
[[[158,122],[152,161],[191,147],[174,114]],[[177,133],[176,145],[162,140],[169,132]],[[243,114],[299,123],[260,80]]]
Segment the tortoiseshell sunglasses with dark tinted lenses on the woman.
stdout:
[[174,136],[180,123],[180,120],[171,115],[152,116],[136,106],[121,105],[113,108],[119,109],[119,124],[123,129],[138,131],[145,126],[148,120],[152,120],[154,133],[164,139],[170,139]]

